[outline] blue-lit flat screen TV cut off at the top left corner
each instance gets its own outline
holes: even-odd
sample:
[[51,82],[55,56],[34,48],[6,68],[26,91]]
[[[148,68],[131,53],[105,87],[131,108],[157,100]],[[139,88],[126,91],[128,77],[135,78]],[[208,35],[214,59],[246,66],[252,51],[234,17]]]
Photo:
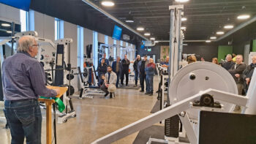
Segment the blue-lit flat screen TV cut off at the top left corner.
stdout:
[[31,0],[0,0],[0,3],[16,7],[21,10],[29,11]]

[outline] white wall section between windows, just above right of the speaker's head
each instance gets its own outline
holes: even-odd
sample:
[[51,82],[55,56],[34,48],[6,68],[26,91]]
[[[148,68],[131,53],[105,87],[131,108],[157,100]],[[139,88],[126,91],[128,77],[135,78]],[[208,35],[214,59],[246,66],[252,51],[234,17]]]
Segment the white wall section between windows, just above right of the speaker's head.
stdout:
[[34,31],[38,37],[54,41],[54,18],[34,11]]

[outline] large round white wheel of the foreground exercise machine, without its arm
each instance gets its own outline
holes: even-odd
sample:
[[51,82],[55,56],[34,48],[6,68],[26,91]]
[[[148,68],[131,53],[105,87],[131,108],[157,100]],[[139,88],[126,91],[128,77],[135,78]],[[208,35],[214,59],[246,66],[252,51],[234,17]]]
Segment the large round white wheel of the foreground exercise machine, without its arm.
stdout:
[[[226,69],[210,62],[195,62],[180,69],[171,80],[170,104],[180,102],[208,88],[238,94],[236,82]],[[233,110],[233,104],[219,102],[224,105],[224,112]],[[198,118],[198,110],[189,109],[187,113],[190,118]]]

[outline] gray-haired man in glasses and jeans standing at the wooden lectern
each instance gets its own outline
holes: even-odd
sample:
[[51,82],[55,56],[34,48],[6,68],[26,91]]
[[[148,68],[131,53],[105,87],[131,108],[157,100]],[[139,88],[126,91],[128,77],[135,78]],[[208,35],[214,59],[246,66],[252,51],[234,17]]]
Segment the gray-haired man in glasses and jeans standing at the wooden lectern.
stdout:
[[34,37],[23,36],[18,41],[18,53],[4,60],[4,112],[10,124],[12,143],[41,143],[42,114],[39,96],[56,96],[59,89],[45,86],[45,72],[34,58],[38,45]]

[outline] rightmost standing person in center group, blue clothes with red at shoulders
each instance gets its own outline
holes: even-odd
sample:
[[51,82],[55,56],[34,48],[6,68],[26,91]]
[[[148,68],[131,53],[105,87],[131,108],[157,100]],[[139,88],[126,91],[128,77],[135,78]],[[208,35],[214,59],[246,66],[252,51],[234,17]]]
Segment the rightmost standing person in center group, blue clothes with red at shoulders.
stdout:
[[148,89],[146,91],[146,94],[149,96],[153,96],[154,91],[154,72],[156,70],[156,65],[154,64],[153,58],[149,58],[148,65],[146,66],[146,86],[148,86]]

